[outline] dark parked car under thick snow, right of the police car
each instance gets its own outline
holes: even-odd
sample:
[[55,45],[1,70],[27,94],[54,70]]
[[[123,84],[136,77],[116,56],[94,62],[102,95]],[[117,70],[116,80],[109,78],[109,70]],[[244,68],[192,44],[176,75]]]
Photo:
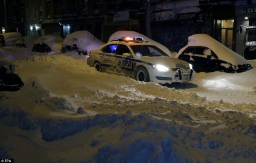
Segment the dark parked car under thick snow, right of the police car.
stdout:
[[251,64],[241,55],[207,34],[188,37],[188,44],[180,49],[176,58],[192,64],[195,72],[245,72]]

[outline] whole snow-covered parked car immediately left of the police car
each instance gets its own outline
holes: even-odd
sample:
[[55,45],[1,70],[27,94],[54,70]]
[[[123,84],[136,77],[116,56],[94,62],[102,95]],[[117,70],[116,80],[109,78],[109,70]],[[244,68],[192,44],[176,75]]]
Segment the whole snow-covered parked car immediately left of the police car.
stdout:
[[78,54],[87,55],[92,49],[98,49],[104,45],[89,31],[76,31],[69,34],[62,43],[62,53],[77,51]]

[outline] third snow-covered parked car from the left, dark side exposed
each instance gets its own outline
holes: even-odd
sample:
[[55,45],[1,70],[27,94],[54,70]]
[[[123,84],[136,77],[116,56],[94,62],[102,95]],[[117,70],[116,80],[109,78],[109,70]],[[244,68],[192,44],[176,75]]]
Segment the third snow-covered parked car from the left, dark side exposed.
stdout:
[[32,48],[33,52],[60,52],[63,38],[59,35],[43,35],[39,37]]

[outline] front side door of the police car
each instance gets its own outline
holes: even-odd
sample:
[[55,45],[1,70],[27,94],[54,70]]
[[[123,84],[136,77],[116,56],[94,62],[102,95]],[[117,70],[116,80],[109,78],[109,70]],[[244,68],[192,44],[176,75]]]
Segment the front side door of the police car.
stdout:
[[123,75],[131,75],[132,74],[132,54],[130,49],[126,45],[118,45],[117,51],[115,53],[115,66],[118,73],[122,73]]

